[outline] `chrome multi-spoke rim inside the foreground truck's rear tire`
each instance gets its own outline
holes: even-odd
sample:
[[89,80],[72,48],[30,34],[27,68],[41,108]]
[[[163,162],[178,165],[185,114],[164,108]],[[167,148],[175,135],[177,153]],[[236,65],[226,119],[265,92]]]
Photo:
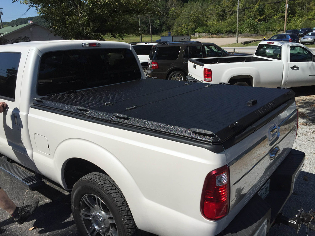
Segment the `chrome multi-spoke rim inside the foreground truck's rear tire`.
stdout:
[[86,194],[80,201],[81,220],[90,236],[117,236],[117,225],[111,211],[99,197]]

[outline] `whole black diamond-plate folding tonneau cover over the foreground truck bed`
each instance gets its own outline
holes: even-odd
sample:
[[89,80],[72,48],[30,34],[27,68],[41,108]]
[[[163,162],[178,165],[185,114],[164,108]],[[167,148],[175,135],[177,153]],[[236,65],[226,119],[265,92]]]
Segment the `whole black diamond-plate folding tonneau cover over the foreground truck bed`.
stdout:
[[149,78],[47,96],[32,107],[222,143],[292,97],[287,89]]

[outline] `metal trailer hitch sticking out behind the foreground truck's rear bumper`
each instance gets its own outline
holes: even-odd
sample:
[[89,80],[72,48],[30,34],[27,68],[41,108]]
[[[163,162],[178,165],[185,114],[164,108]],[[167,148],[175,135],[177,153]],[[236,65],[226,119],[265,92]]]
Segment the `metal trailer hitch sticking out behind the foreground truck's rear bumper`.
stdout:
[[[314,224],[311,222],[313,221]],[[299,232],[301,225],[306,225],[306,228],[308,228],[308,231],[315,230],[315,212],[313,210],[310,210],[309,212],[303,211],[303,208],[298,210],[298,214],[295,215],[293,218],[288,218],[286,216],[283,216],[283,213],[280,213],[277,216],[277,219],[275,223],[282,223],[284,225],[288,225],[290,227],[295,228],[296,234]],[[307,231],[306,231],[307,234]],[[307,234],[309,235],[309,233]]]

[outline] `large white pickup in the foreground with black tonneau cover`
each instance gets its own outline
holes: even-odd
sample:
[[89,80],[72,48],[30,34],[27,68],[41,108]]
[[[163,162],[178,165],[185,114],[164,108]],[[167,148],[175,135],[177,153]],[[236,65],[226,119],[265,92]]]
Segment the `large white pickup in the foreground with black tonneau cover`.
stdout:
[[72,190],[84,236],[266,235],[303,166],[292,90],[145,79],[127,43],[2,45],[0,83],[0,168]]

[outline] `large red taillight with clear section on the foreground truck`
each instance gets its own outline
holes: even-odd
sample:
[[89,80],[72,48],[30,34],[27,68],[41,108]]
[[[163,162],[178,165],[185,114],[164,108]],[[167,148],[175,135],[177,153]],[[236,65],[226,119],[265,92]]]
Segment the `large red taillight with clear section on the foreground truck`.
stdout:
[[205,179],[201,197],[202,214],[210,220],[218,220],[228,213],[229,202],[229,168],[222,166],[211,171]]

